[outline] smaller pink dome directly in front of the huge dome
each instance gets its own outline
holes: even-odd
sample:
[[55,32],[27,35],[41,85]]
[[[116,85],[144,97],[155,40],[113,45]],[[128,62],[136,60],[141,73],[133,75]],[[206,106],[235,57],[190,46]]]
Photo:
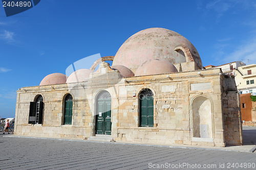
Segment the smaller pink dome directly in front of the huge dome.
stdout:
[[158,75],[170,72],[178,72],[178,70],[167,60],[155,58],[141,64],[135,72],[135,76]]

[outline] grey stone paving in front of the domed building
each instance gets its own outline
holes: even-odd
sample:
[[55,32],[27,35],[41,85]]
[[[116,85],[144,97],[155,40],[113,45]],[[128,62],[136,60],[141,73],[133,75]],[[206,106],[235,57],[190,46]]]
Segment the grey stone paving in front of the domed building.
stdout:
[[256,169],[256,153],[248,152],[11,135],[0,135],[0,147],[0,169]]

